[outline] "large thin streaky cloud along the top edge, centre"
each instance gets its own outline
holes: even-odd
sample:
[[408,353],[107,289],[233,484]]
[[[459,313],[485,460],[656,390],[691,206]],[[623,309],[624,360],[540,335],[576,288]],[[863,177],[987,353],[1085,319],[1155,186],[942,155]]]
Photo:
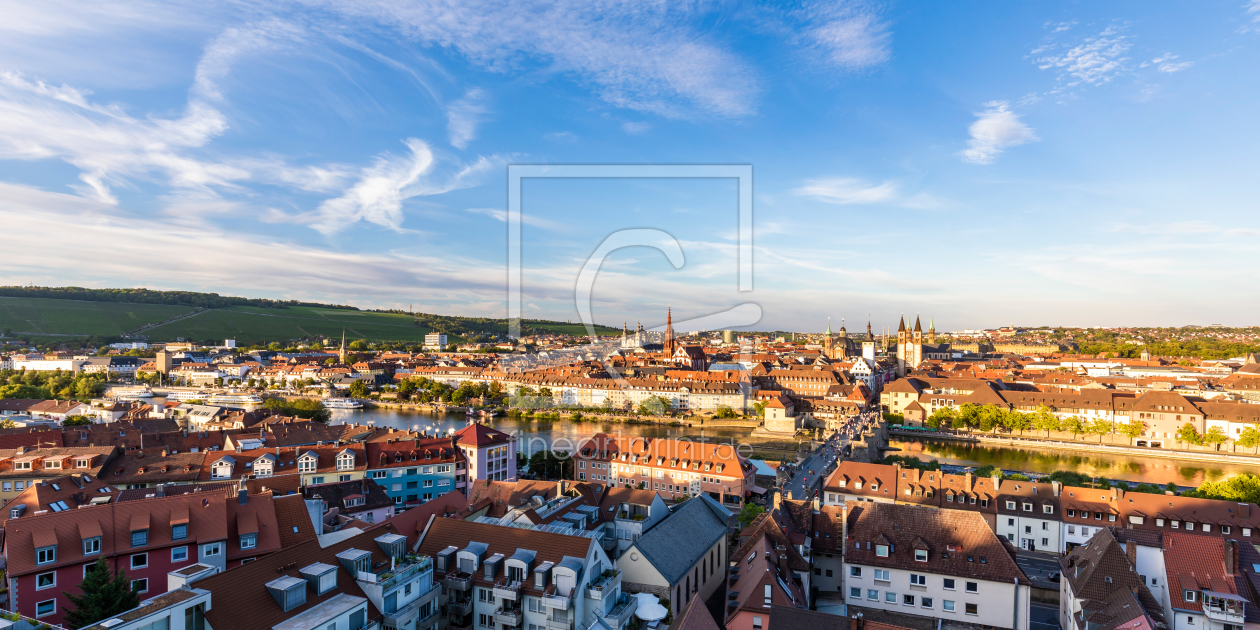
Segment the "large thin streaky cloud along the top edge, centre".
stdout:
[[604,101],[669,117],[751,113],[759,79],[689,26],[704,5],[578,0],[312,0],[457,50],[494,72],[543,64]]

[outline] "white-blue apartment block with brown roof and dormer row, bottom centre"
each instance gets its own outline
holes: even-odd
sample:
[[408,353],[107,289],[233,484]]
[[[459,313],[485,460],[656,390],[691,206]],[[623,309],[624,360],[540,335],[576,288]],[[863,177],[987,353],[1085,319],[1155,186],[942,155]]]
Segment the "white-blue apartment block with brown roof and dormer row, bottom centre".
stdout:
[[435,558],[446,627],[621,630],[638,600],[581,530],[435,519],[418,552]]

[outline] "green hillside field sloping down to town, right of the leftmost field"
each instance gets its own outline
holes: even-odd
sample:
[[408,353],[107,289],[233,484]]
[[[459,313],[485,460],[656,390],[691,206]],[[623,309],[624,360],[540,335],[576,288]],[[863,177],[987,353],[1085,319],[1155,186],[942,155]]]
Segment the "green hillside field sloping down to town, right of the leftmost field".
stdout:
[[304,336],[328,335],[372,341],[423,341],[427,328],[416,325],[407,315],[365,312],[341,309],[294,306],[290,309],[257,309],[233,306],[213,309],[199,315],[145,330],[154,341],[184,339],[236,339],[239,344],[285,341]]

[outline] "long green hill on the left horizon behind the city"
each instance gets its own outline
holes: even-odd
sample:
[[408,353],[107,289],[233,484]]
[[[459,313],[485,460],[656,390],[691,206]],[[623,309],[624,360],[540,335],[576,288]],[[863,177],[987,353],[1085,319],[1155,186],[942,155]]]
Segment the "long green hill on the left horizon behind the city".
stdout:
[[[454,340],[505,335],[508,320],[189,291],[0,287],[0,329],[13,336],[44,341],[58,338],[110,340],[132,334],[151,341],[236,339],[242,345],[338,338],[344,329],[348,340],[420,343],[430,331],[445,333]],[[522,320],[522,334],[538,333],[585,334],[585,328],[561,321]],[[596,333],[611,335],[619,330],[597,326]]]

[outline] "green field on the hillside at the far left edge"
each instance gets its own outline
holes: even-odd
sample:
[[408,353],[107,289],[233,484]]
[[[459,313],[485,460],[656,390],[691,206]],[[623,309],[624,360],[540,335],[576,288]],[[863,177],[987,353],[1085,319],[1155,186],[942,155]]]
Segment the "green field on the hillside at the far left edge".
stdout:
[[0,329],[48,335],[121,335],[188,312],[192,306],[0,297]]

